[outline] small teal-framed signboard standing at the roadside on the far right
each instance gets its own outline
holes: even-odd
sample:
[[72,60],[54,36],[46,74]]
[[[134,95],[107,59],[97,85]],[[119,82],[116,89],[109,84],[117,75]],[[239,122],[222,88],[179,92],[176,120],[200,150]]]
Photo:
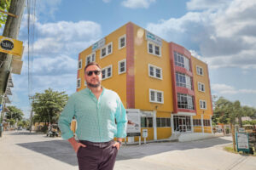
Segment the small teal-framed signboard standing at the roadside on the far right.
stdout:
[[250,151],[247,133],[236,133],[236,148],[237,151]]

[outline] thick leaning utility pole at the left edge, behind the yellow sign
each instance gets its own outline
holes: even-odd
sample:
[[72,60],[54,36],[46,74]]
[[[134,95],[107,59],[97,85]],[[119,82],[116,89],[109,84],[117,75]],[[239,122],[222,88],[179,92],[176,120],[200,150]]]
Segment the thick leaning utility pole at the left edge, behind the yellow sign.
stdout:
[[[15,15],[8,15],[3,37],[17,39],[20,31],[20,21],[22,19],[26,0],[12,0],[9,6],[9,13]],[[12,55],[0,52],[0,104],[3,103],[5,90],[8,86],[9,75],[11,74]]]

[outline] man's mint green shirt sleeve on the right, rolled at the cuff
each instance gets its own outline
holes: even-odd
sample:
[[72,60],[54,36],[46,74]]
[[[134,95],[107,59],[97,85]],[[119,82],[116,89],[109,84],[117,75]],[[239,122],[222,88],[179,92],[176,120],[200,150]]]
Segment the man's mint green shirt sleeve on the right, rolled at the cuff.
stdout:
[[119,100],[119,107],[115,114],[116,122],[117,122],[117,138],[125,138],[126,137],[126,127],[127,127],[127,116],[126,110],[122,102]]

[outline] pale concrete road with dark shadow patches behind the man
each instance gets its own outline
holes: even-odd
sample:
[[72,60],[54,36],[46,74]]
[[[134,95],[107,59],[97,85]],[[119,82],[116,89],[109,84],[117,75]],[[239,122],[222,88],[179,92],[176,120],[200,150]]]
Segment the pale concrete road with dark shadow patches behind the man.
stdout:
[[[223,150],[230,137],[193,142],[166,142],[122,146],[114,170],[255,170],[255,156]],[[67,141],[26,131],[4,132],[0,138],[0,169],[78,170]]]

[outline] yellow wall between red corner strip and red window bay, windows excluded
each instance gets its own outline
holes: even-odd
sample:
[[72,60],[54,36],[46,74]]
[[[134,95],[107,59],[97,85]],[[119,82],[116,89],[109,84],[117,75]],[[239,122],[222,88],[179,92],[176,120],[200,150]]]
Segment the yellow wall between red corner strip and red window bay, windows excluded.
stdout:
[[[143,35],[143,36],[141,36]],[[154,111],[173,111],[172,75],[169,59],[168,43],[162,41],[161,57],[148,54],[148,42],[145,30],[134,25],[134,59],[135,59],[135,107]],[[163,80],[148,76],[148,64],[162,68]],[[164,104],[149,102],[149,88],[164,92]]]

